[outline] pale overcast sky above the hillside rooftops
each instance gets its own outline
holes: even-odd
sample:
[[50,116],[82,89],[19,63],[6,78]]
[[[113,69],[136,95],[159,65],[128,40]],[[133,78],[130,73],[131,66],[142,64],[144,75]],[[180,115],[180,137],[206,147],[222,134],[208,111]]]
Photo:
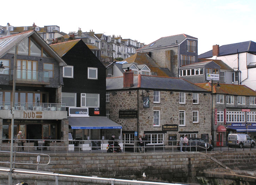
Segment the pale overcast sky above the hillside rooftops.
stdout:
[[13,0],[0,2],[0,25],[80,27],[145,44],[185,33],[198,38],[202,54],[215,44],[256,42],[255,9],[255,0]]

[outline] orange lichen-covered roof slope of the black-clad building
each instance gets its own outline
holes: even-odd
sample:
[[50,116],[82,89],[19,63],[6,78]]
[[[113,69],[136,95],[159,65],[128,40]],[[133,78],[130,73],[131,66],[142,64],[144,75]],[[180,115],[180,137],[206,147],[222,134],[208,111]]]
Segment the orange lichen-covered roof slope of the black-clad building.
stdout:
[[74,41],[68,41],[68,42],[62,42],[59,44],[51,44],[50,47],[53,48],[53,50],[62,57],[65,55],[71,48],[74,47],[75,44],[77,44],[81,39],[77,39]]

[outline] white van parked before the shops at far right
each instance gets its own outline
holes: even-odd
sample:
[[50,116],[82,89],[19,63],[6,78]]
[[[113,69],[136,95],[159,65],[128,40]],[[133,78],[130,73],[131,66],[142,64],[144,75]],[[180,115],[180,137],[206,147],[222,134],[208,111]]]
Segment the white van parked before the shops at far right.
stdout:
[[228,134],[228,147],[251,147],[255,146],[255,141],[247,134]]

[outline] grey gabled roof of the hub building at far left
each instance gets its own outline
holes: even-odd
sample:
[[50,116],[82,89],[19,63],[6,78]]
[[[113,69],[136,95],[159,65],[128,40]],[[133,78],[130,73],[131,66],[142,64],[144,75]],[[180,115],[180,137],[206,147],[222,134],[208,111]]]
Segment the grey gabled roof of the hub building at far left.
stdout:
[[[61,59],[61,57],[57,55],[56,52],[53,49],[51,49],[51,47],[36,33],[35,30],[0,38],[0,43],[2,43],[2,45],[0,46],[0,58],[6,55],[8,51],[10,51],[14,47],[15,44],[19,44],[24,39],[30,36],[33,37],[33,39],[35,39],[35,41],[38,44],[40,44],[43,47],[43,49],[47,51],[48,54],[53,56],[60,64],[62,63],[61,66],[67,65]],[[5,44],[3,44],[4,42]]]

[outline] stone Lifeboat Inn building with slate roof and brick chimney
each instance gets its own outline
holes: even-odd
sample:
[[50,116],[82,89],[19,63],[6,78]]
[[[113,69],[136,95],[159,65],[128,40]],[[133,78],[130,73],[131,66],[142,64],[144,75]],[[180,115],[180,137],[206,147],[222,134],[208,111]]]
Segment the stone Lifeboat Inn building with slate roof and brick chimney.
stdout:
[[181,78],[133,75],[106,79],[106,112],[122,125],[124,144],[133,146],[135,132],[148,145],[167,146],[170,137],[211,135],[211,92]]

